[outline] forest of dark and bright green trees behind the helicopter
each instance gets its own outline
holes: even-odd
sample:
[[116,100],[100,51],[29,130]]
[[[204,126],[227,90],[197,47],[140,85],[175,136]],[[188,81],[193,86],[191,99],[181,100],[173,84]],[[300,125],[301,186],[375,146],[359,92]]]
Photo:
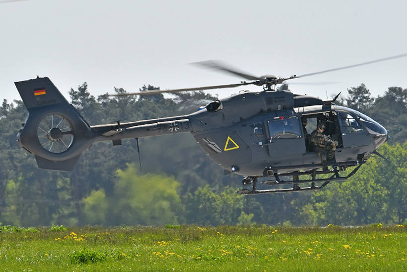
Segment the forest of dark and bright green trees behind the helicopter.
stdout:
[[[282,85],[288,90],[287,85]],[[143,86],[140,91],[157,89]],[[126,92],[116,89],[117,93]],[[345,90],[344,90],[345,91]],[[241,177],[225,176],[188,134],[96,143],[74,171],[38,169],[16,144],[27,116],[20,100],[0,108],[0,222],[3,225],[364,225],[401,224],[407,218],[407,89],[390,87],[372,97],[364,84],[341,104],[365,113],[391,139],[356,175],[324,189],[244,196]],[[204,92],[92,96],[87,84],[69,92],[89,124],[188,114],[217,99]],[[139,160],[140,158],[140,160]]]

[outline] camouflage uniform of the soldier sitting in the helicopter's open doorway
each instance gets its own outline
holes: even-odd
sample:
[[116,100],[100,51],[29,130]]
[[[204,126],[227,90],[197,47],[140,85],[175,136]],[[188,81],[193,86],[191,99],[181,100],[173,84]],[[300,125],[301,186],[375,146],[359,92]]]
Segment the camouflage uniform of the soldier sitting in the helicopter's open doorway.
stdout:
[[334,158],[337,142],[318,132],[317,129],[311,133],[311,142],[314,144],[315,152],[321,158],[322,167],[327,169],[327,159],[332,160]]

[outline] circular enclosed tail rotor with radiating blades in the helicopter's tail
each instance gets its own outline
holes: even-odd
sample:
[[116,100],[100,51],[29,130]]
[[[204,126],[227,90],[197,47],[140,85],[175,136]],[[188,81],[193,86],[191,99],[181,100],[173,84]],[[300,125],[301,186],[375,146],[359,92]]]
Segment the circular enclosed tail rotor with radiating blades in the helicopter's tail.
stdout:
[[41,146],[51,153],[66,151],[73,142],[73,128],[68,120],[57,114],[44,117],[37,129]]

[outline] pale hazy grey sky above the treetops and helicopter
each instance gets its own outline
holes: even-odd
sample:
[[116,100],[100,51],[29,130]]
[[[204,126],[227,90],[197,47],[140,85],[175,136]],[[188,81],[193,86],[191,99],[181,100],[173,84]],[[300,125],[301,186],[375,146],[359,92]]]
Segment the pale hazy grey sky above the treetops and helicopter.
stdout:
[[[406,14],[406,0],[0,0],[0,98],[20,99],[13,82],[37,75],[67,98],[83,82],[96,97],[244,80],[188,65],[204,60],[282,77],[362,63],[407,53]],[[290,85],[322,98],[364,83],[377,96],[407,88],[406,68],[407,57],[288,83],[335,82]],[[212,93],[243,88],[261,90]]]

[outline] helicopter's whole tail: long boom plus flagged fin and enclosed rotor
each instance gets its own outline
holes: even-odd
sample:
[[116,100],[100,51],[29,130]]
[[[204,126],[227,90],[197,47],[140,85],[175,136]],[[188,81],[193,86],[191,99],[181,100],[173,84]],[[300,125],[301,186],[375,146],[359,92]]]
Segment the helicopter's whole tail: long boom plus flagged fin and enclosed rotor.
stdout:
[[192,132],[189,115],[90,126],[49,78],[16,82],[28,116],[17,143],[39,168],[72,171],[80,154],[95,142]]

